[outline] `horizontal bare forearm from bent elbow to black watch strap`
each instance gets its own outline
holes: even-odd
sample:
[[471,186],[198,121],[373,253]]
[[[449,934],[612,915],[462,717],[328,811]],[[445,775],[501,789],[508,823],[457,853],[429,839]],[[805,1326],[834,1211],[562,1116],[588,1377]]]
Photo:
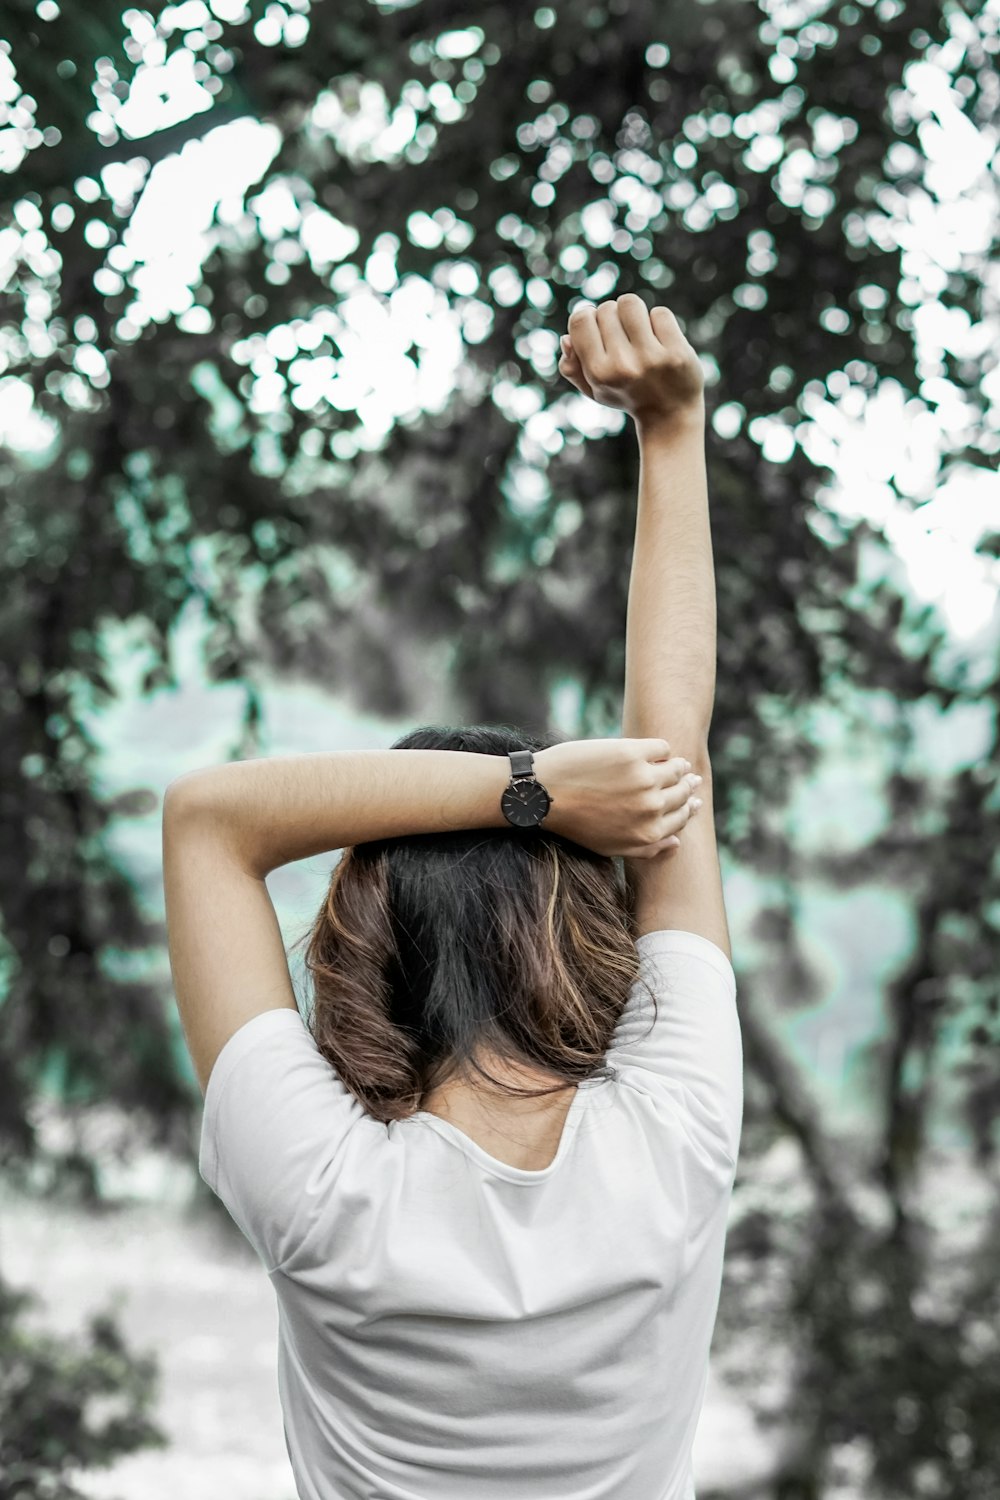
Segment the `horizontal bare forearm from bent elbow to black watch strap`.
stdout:
[[330,849],[507,828],[507,756],[463,750],[342,750],[267,756],[190,771],[166,789],[163,820],[223,837],[264,876]]

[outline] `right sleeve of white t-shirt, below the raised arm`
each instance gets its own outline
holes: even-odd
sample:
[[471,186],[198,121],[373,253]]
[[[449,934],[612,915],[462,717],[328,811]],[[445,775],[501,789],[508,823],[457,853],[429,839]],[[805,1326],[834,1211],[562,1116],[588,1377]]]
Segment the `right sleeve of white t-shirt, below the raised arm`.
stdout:
[[[669,927],[636,939],[639,978],[607,1060],[655,1096],[700,1150],[736,1170],[744,1118],[744,1052],[736,975],[723,950]],[[654,1006],[645,986],[657,998]]]

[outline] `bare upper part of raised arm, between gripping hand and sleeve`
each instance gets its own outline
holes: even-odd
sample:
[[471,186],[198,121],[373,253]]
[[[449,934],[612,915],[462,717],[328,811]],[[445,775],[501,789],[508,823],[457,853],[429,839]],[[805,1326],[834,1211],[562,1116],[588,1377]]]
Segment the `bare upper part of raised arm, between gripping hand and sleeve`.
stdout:
[[712,766],[705,756],[697,768],[700,810],[688,819],[681,844],[652,856],[625,858],[625,873],[634,896],[636,932],[673,927],[708,938],[732,963],[723,873],[715,844]]

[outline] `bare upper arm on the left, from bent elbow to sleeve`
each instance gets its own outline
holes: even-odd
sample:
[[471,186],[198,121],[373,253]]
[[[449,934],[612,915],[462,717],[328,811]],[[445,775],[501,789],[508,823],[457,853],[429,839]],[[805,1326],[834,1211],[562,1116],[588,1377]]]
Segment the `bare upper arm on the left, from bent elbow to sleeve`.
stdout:
[[204,1094],[240,1026],[297,1005],[267,885],[243,867],[192,778],[163,800],[163,896],[174,993]]

